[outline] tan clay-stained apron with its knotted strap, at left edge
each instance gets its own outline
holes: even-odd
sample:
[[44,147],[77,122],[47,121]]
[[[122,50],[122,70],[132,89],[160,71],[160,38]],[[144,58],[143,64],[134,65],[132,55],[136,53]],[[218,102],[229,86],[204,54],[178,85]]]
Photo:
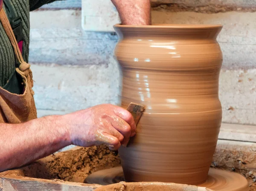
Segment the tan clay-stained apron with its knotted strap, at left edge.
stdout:
[[9,20],[0,0],[0,22],[12,44],[18,67],[16,72],[22,78],[23,93],[13,94],[0,87],[0,123],[22,123],[37,118],[32,71],[30,65],[23,60]]

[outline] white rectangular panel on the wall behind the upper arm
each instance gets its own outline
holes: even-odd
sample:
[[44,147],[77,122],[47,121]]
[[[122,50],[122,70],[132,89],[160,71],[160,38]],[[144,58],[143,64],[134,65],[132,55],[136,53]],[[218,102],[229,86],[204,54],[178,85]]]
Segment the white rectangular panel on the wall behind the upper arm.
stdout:
[[82,28],[85,31],[113,32],[120,23],[118,12],[110,0],[82,0]]

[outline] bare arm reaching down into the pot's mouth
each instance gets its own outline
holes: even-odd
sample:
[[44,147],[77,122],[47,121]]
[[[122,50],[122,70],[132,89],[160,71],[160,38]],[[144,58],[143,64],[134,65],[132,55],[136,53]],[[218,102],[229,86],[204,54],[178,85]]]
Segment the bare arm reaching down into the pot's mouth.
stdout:
[[123,25],[151,25],[150,0],[111,0]]

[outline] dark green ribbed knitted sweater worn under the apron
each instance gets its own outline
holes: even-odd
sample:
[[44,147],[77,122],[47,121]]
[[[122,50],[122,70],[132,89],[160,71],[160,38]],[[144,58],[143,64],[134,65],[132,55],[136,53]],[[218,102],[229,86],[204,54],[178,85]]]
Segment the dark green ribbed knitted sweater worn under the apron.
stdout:
[[[10,0],[15,10],[15,16],[20,16],[23,24],[23,55],[24,60],[28,62],[29,58],[29,11],[38,9],[47,3],[55,0]],[[4,6],[3,6],[4,8]],[[5,8],[4,8],[5,9]],[[15,69],[15,55],[12,45],[0,23],[0,86],[3,87],[12,71]]]

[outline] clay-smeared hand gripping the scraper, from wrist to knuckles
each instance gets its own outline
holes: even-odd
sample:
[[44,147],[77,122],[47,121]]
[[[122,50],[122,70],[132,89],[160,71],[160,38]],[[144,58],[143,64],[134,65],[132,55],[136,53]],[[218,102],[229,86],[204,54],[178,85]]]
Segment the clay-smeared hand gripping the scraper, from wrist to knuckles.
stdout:
[[103,104],[63,116],[68,120],[70,138],[74,145],[106,144],[111,150],[127,145],[136,134],[131,113],[121,107]]

